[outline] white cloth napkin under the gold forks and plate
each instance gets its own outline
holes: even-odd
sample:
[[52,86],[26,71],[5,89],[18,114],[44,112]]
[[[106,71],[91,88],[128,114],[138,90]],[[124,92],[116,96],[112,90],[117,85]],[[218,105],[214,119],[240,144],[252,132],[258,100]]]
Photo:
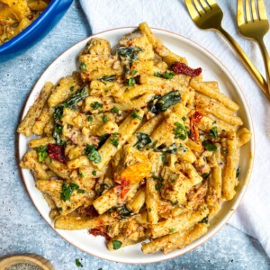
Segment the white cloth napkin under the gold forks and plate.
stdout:
[[[93,33],[148,22],[152,27],[175,31],[209,49],[229,68],[242,88],[254,121],[256,157],[251,182],[229,224],[257,238],[270,257],[270,103],[229,45],[213,31],[201,31],[192,22],[184,0],[80,0]],[[236,1],[218,1],[224,13],[222,25],[238,40],[265,75],[257,45],[240,37],[236,26]],[[265,1],[270,18],[270,1]],[[265,38],[270,48],[269,34]],[[269,51],[270,53],[270,51]]]

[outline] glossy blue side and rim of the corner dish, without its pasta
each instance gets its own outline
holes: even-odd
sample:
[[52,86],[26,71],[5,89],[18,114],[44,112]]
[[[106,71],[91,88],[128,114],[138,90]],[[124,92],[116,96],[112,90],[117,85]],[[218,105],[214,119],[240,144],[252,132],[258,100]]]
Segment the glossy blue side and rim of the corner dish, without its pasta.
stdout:
[[40,41],[67,12],[72,0],[52,0],[25,30],[0,46],[0,63],[23,53]]

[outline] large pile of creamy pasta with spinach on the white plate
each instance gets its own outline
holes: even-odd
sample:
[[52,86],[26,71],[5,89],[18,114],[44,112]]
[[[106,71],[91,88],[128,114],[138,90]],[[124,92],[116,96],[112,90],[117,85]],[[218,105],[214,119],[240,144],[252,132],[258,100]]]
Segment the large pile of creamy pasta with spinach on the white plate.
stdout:
[[250,139],[238,104],[203,82],[147,23],[121,38],[91,39],[79,72],[47,82],[18,132],[57,229],[88,229],[110,250],[142,243],[168,253],[207,232],[238,185]]

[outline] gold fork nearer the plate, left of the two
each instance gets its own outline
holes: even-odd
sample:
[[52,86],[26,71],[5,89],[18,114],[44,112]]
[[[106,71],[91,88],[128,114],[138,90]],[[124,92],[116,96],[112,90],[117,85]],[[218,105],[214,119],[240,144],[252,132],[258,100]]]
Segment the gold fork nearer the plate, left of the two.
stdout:
[[223,13],[220,6],[215,0],[185,0],[186,7],[191,15],[193,22],[202,30],[218,31],[229,42],[234,49],[238,58],[247,67],[248,72],[254,77],[257,85],[261,88],[266,97],[270,101],[270,94],[268,93],[268,85],[264,76],[257,70],[247,54],[239,46],[238,42],[234,40],[227,31],[221,26]]

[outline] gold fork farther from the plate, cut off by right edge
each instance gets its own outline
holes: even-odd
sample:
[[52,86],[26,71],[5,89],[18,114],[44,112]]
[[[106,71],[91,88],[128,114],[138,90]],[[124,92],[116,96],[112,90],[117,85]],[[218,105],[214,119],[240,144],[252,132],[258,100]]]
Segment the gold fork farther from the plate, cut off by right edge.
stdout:
[[269,31],[266,7],[263,0],[257,0],[257,4],[255,0],[251,0],[250,14],[249,0],[245,2],[244,6],[243,0],[238,0],[238,29],[243,37],[256,41],[261,49],[270,93],[270,58],[264,42],[264,36]]

